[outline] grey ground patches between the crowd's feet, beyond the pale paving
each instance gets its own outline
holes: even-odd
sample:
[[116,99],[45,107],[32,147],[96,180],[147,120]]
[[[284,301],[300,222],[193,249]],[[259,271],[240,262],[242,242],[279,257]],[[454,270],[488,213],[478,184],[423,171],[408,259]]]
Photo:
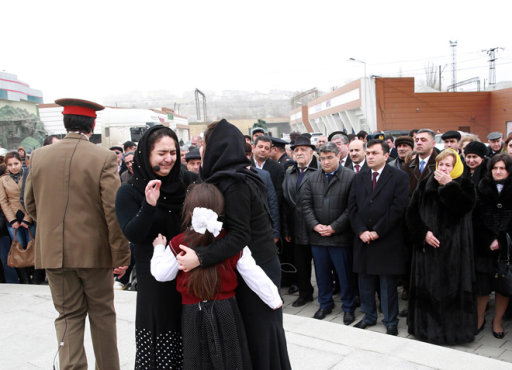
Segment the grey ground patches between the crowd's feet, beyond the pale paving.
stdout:
[[[401,295],[402,288],[399,288],[399,296]],[[318,302],[316,300],[317,296],[315,295],[315,300],[311,303],[306,304],[303,307],[293,307],[292,303],[298,298],[298,294],[290,295],[288,294],[288,289],[281,289],[281,293],[284,298],[284,312],[290,315],[302,316],[302,317],[313,317],[316,310],[318,310]],[[316,293],[316,289],[315,289]],[[336,323],[338,325],[343,324],[343,313],[341,312],[341,302],[339,295],[335,296],[336,307],[333,310],[333,313],[328,315],[323,321],[329,321],[332,323]],[[406,307],[406,301],[399,300],[400,302],[400,310]],[[493,318],[494,312],[494,299],[491,298],[489,302],[489,309],[486,313],[486,326],[485,329],[478,334],[473,343],[459,345],[459,346],[446,346],[447,348],[453,348],[460,351],[465,351],[469,353],[474,353],[481,356],[487,356],[490,358],[498,359],[501,361],[507,361],[512,363],[512,321],[503,321],[503,326],[505,329],[505,338],[496,339],[492,335],[492,327],[491,321]],[[363,313],[359,308],[356,309],[356,321],[354,321],[351,326],[357,323],[359,320],[363,318]],[[382,320],[382,314],[379,314],[379,323],[375,326],[372,326],[366,330],[372,330],[378,333],[385,333],[386,328],[380,322]],[[400,322],[398,324],[398,336],[402,338],[409,338],[414,340],[413,336],[407,332],[407,324],[406,318],[400,318]],[[510,367],[512,369],[512,365]]]

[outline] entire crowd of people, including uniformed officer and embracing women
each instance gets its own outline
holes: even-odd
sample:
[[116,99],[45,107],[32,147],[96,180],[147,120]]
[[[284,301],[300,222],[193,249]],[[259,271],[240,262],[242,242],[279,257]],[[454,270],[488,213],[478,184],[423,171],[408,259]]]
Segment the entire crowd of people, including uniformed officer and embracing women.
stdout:
[[[436,344],[473,341],[494,293],[505,336],[495,275],[512,244],[512,136],[448,131],[439,150],[428,128],[336,131],[314,145],[221,120],[190,146],[154,126],[106,150],[88,140],[101,105],[56,103],[68,134],[0,163],[0,258],[7,283],[48,281],[61,368],[87,366],[87,315],[97,367],[119,368],[113,288],[132,270],[137,369],[291,368],[279,288],[294,307],[316,289],[315,319],[339,292],[345,325],[358,307],[354,327],[377,325],[380,310],[387,334],[407,317]],[[9,267],[10,241],[31,235],[34,268]]]

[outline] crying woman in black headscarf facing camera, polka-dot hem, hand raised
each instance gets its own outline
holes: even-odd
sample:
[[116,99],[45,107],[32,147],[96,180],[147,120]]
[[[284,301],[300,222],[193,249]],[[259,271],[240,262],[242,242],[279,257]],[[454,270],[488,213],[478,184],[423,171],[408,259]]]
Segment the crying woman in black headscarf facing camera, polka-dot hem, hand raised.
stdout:
[[176,281],[151,275],[153,239],[180,233],[181,207],[188,183],[181,173],[180,147],[174,131],[154,126],[142,136],[134,156],[133,177],[119,188],[116,213],[126,238],[134,244],[137,269],[136,369],[181,369],[181,297]]

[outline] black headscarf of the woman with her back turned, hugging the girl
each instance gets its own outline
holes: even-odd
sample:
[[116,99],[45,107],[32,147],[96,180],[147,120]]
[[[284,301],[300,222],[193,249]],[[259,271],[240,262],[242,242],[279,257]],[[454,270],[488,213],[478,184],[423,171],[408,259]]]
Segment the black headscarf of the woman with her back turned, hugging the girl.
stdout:
[[224,193],[236,180],[256,185],[264,190],[260,177],[249,169],[251,161],[245,156],[245,137],[225,119],[219,121],[208,138],[199,176],[218,186]]

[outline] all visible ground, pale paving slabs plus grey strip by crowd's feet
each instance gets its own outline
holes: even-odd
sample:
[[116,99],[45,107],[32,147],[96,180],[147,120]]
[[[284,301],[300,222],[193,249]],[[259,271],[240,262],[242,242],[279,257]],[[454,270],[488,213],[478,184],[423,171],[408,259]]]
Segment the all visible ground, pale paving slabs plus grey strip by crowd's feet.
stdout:
[[[134,367],[135,297],[134,292],[115,293],[122,369]],[[316,310],[316,304],[295,309],[290,306],[295,297],[285,295],[284,298],[287,313],[284,326],[294,369],[512,369],[509,362],[381,334],[383,327],[380,325],[374,330],[347,327],[342,324],[339,306],[326,320],[314,320],[309,317]],[[360,316],[358,312],[358,318]],[[0,368],[51,369],[57,349],[55,317],[48,286],[0,284]],[[405,336],[405,333],[401,323],[400,334]],[[464,350],[478,352],[481,349],[486,356],[506,360],[505,356],[512,351],[511,342],[494,340],[496,344],[487,343],[484,334],[475,342],[474,350],[469,347]],[[94,356],[88,329],[85,343],[92,369]]]

